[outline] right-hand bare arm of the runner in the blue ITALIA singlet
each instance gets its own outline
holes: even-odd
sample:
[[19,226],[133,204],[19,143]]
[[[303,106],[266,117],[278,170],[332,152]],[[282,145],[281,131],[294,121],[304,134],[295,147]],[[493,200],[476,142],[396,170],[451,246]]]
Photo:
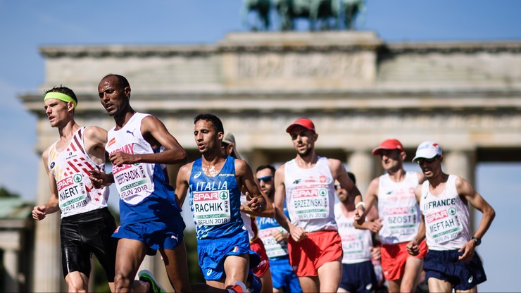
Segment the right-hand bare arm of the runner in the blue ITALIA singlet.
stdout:
[[235,175],[239,179],[241,185],[239,189],[242,189],[242,187],[246,189],[246,201],[251,214],[273,218],[275,215],[275,208],[273,208],[268,197],[261,192],[261,188],[258,187],[258,183],[253,177],[253,171],[246,161],[239,159],[235,160]]

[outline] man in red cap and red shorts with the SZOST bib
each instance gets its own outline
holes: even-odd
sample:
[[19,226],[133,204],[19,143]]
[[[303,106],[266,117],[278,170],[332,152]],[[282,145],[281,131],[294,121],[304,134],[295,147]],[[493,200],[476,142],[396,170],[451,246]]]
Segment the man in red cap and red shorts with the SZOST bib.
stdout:
[[377,200],[379,218],[363,225],[365,216],[356,218],[355,227],[378,232],[382,242],[382,269],[389,282],[389,292],[413,292],[420,279],[427,246],[422,242],[420,254],[413,257],[408,254],[406,245],[420,226],[420,208],[414,189],[425,178],[420,173],[403,169],[406,152],[398,139],[384,140],[372,154],[380,156],[386,173],[371,181],[365,193],[365,205],[360,205],[367,206],[364,214],[367,216]]

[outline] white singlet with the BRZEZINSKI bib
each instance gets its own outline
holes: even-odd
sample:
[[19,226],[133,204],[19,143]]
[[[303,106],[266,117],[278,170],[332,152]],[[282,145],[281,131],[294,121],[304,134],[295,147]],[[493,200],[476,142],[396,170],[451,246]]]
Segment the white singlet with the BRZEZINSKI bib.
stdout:
[[334,180],[327,158],[319,156],[309,169],[299,168],[293,159],[284,165],[284,174],[291,223],[307,232],[337,230]]

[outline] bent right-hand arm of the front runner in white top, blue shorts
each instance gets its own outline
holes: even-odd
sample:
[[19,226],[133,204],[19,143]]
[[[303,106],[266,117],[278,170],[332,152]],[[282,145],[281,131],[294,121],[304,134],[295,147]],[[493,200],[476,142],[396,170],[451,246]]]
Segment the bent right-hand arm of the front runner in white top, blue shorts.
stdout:
[[187,161],[187,152],[177,142],[177,139],[168,132],[161,120],[154,116],[147,116],[142,120],[141,127],[146,142],[149,142],[154,149],[163,146],[165,151],[151,154],[125,154],[118,151],[109,156],[114,165],[133,163],[177,164]]

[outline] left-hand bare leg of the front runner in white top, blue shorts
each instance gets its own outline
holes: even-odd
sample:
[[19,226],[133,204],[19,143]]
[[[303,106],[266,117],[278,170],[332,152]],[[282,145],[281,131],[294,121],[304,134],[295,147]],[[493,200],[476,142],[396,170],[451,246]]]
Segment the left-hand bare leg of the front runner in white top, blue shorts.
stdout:
[[147,292],[147,282],[134,282],[148,248],[143,242],[134,239],[120,239],[115,255],[115,292]]

